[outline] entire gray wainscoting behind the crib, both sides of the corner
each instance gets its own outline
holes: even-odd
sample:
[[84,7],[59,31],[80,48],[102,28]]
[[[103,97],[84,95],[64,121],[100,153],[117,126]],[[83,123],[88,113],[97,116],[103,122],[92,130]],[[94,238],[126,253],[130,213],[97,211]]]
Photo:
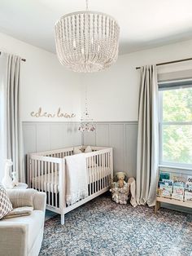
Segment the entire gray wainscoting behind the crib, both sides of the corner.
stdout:
[[76,145],[113,148],[114,170],[136,176],[137,122],[96,122],[94,132],[78,131],[78,122],[23,122],[24,155]]

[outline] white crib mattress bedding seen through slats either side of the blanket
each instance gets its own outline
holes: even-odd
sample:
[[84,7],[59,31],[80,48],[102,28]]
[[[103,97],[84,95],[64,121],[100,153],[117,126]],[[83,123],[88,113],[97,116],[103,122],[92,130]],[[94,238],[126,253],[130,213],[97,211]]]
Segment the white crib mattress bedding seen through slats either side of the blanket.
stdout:
[[[96,170],[93,168],[88,168],[88,183],[90,183],[91,180],[97,181],[100,179],[100,171],[102,166],[97,167]],[[107,177],[107,174],[110,173],[110,170],[108,167],[103,168],[103,178]],[[93,175],[93,176],[92,176]],[[92,179],[91,179],[92,176]],[[40,179],[39,179],[40,178]],[[33,188],[37,190],[41,190],[44,192],[59,192],[59,171],[57,171],[57,175],[55,175],[55,172],[50,174],[50,179],[48,174],[40,175],[37,177],[34,177],[31,182],[33,183]]]

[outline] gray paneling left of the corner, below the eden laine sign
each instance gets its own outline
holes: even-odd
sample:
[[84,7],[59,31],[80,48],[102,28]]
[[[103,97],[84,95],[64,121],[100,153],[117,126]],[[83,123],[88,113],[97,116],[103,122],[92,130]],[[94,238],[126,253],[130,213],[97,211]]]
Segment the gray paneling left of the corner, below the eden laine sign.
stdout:
[[81,145],[78,122],[23,122],[24,155]]

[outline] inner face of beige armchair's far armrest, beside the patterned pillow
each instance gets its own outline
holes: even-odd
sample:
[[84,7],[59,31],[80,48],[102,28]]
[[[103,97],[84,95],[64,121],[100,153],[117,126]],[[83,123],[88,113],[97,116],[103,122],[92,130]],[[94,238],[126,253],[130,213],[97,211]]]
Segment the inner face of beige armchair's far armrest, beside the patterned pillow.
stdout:
[[32,188],[28,189],[7,189],[7,196],[13,205],[13,208],[31,206],[33,207],[33,197],[37,193]]

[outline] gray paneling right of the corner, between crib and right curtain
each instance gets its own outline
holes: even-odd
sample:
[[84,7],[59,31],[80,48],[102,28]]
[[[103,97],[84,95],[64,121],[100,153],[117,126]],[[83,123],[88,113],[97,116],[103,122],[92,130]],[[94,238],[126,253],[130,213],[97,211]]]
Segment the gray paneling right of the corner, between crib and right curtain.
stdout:
[[94,132],[85,133],[85,145],[113,148],[114,171],[124,171],[136,177],[137,122],[96,122]]

